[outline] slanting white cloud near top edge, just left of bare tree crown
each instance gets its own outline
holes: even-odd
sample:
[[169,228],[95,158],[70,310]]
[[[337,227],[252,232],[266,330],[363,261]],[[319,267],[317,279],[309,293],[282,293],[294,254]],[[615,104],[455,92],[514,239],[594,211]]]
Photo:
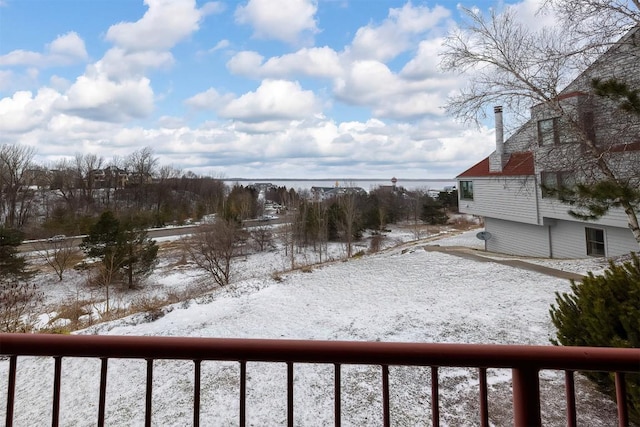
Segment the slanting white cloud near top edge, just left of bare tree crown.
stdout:
[[387,19],[380,25],[369,24],[356,32],[349,48],[356,59],[377,59],[387,61],[411,48],[412,40],[433,29],[451,12],[435,6],[405,4],[400,9],[389,9]]

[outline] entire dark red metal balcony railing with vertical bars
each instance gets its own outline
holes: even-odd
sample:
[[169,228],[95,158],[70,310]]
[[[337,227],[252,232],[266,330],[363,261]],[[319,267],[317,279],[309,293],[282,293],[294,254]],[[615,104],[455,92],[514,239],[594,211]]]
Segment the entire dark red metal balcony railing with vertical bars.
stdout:
[[[0,355],[9,357],[6,382],[6,425],[14,420],[16,369],[20,356],[54,358],[52,426],[59,424],[62,358],[101,359],[98,426],[105,423],[106,380],[109,359],[146,360],[145,425],[152,425],[154,360],[192,360],[194,362],[193,425],[200,424],[202,361],[235,361],[240,365],[240,426],[246,424],[247,362],[280,362],[287,366],[287,424],[294,425],[294,365],[330,364],[334,370],[334,424],[341,423],[341,366],[376,365],[382,372],[382,424],[392,424],[389,409],[389,366],[431,367],[431,420],[440,423],[439,367],[477,368],[480,386],[478,424],[489,425],[487,368],[512,370],[515,426],[536,426],[540,417],[540,370],[565,372],[566,418],[576,425],[575,371],[615,373],[618,425],[628,426],[624,373],[640,372],[640,349],[595,347],[552,347],[522,345],[425,344],[390,342],[302,341],[265,339],[217,339],[180,337],[134,337],[96,335],[0,334]],[[0,383],[2,384],[2,383]],[[0,388],[0,391],[2,389]],[[187,420],[185,420],[185,423]]]

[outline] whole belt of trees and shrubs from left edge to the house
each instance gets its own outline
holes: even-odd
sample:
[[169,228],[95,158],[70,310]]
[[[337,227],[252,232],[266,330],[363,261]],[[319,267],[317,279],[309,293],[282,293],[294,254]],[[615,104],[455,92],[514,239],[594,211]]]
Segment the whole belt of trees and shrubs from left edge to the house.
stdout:
[[[431,197],[427,190],[379,187],[344,191],[318,200],[309,190],[227,186],[222,180],[159,167],[150,149],[134,152],[121,165],[105,166],[94,155],[76,155],[55,168],[34,164],[33,149],[0,147],[0,330],[28,330],[25,313],[42,300],[31,278],[37,271],[20,253],[31,239],[40,263],[62,281],[71,268],[86,271],[86,284],[100,289],[111,310],[114,286],[140,286],[156,266],[159,247],[148,230],[199,222],[181,239],[184,258],[209,273],[212,283],[228,285],[238,256],[279,246],[296,265],[296,254],[311,249],[327,258],[329,242],[342,242],[345,256],[372,230],[371,251],[387,225],[404,222],[419,230],[442,224],[457,211],[457,193]],[[127,173],[124,180],[118,174]],[[281,224],[266,221],[269,202],[278,206]],[[263,218],[260,221],[257,218]],[[76,239],[83,236],[78,246]],[[416,238],[420,237],[416,231]],[[35,239],[35,240],[34,240]],[[278,245],[279,243],[279,245]]]

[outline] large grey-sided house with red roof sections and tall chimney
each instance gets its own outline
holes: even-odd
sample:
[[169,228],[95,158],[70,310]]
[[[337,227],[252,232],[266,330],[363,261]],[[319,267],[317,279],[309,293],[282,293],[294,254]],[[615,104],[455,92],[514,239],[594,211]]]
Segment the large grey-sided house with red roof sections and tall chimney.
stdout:
[[582,160],[584,145],[567,132],[567,120],[573,120],[571,129],[578,123],[595,141],[618,176],[640,186],[640,118],[622,114],[619,103],[593,94],[593,78],[616,78],[640,89],[640,29],[627,34],[559,94],[564,115],[557,108],[535,106],[530,119],[504,141],[502,108],[495,108],[496,150],[457,177],[460,212],[484,218],[491,235],[487,250],[545,258],[638,252],[622,209],[597,221],[582,221],[546,191],[599,173],[588,164],[593,159]]

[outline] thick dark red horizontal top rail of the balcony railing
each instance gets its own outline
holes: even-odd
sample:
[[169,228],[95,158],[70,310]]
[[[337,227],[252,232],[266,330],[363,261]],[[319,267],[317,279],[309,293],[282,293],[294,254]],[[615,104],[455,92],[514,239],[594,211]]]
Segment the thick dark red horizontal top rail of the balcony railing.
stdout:
[[0,354],[640,372],[640,349],[550,345],[0,334]]

